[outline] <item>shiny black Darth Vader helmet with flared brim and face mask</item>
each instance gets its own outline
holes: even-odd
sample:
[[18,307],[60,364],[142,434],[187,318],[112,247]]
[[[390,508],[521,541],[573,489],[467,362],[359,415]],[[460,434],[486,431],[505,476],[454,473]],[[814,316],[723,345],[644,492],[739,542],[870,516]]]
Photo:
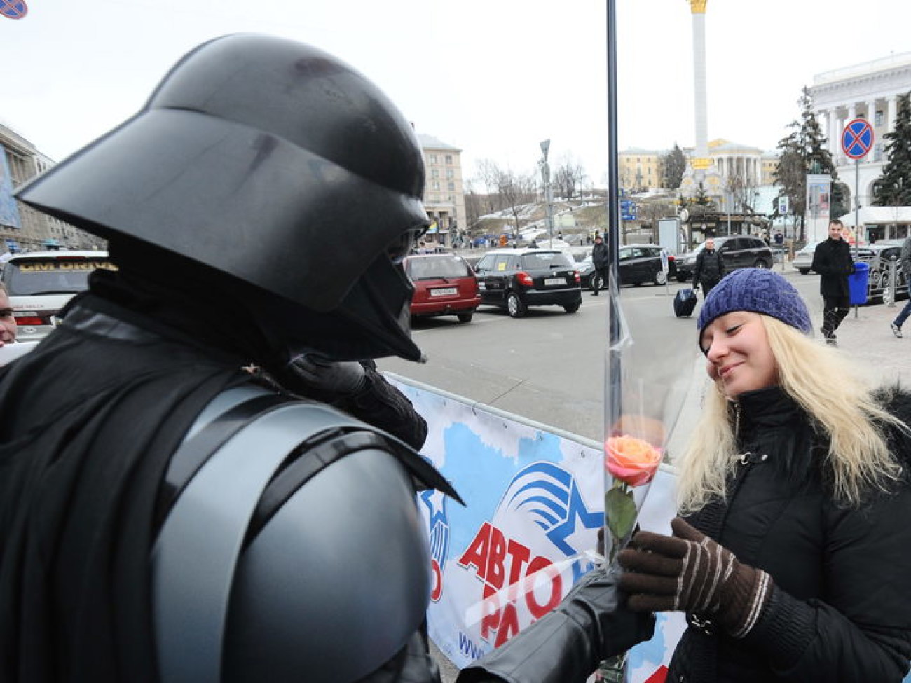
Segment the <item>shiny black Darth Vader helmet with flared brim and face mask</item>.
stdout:
[[429,222],[423,189],[414,130],[369,80],[311,46],[234,35],[17,196],[252,285],[337,357],[417,360],[397,260]]

